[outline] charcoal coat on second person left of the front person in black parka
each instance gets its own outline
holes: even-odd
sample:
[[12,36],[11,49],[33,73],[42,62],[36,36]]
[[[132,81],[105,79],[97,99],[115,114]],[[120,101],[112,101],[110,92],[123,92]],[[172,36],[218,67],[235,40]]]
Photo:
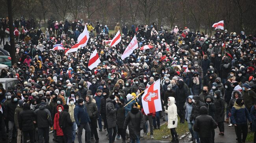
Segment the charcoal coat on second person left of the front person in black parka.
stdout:
[[117,127],[116,112],[117,112],[117,109],[115,109],[113,100],[111,100],[110,98],[107,98],[106,116],[107,116],[108,129]]

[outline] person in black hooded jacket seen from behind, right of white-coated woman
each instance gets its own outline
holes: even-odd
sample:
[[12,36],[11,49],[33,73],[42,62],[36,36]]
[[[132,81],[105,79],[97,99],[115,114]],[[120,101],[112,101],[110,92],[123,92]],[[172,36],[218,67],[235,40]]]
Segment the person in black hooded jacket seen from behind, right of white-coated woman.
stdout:
[[200,107],[200,116],[195,119],[194,130],[200,136],[200,143],[213,143],[212,130],[217,128],[217,123],[208,115],[205,106]]

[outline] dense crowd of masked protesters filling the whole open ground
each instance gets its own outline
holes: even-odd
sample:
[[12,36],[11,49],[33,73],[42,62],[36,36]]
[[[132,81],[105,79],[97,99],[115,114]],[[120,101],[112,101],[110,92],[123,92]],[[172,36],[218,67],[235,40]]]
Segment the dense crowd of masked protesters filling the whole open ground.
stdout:
[[[193,143],[214,143],[215,136],[224,136],[224,122],[234,126],[238,143],[245,142],[248,123],[256,130],[256,35],[227,30],[207,35],[155,23],[130,29],[117,23],[111,33],[100,22],[51,19],[42,31],[31,21],[15,20],[18,62],[0,72],[0,78],[18,80],[8,91],[0,87],[2,140],[48,143],[50,129],[56,142],[74,143],[78,138],[82,143],[84,129],[86,143],[98,143],[98,132],[104,130],[109,143],[125,143],[127,138],[139,143],[148,135],[148,123],[154,139],[160,119],[167,121],[172,143],[179,142],[178,122],[188,123]],[[8,23],[8,18],[0,20],[1,44],[8,36]],[[67,54],[85,26],[90,35],[87,46]],[[121,42],[110,47],[106,40],[119,30]],[[139,47],[153,48],[135,49],[121,60],[133,36]],[[65,49],[54,51],[55,44]],[[8,42],[4,49],[10,51]],[[101,63],[90,70],[95,49]],[[158,79],[162,111],[145,114],[137,95]]]

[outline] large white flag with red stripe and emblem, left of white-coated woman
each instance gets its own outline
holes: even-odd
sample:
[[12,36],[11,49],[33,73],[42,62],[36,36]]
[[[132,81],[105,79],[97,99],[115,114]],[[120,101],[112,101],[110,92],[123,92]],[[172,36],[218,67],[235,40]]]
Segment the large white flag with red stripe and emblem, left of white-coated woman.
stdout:
[[162,110],[160,97],[160,79],[145,89],[141,100],[145,114]]

